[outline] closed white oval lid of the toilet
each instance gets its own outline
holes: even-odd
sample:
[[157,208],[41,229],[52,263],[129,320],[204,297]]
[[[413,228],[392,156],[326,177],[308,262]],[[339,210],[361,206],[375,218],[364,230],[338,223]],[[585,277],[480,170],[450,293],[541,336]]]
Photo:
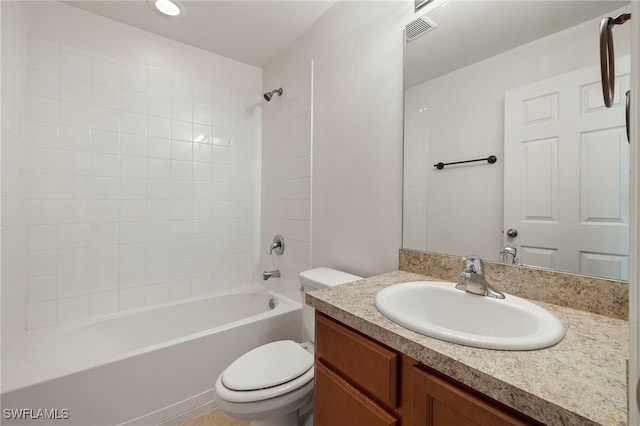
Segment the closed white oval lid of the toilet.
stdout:
[[249,391],[287,383],[313,367],[313,355],[292,340],[257,347],[235,360],[222,373],[229,389]]

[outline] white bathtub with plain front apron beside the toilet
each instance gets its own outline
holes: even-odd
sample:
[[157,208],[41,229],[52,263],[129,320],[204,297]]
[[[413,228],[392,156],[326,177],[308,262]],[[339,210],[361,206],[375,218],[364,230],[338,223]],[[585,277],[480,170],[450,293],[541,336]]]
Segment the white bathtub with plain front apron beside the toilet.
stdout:
[[299,303],[256,289],[28,332],[2,360],[1,421],[177,424],[215,406],[215,379],[239,355],[301,328]]

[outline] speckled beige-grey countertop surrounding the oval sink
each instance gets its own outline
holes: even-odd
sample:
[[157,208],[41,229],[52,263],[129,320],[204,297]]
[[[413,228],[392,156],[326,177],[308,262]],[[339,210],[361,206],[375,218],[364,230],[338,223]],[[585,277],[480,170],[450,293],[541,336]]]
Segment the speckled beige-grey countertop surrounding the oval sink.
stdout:
[[404,271],[310,292],[309,305],[483,394],[549,425],[626,425],[626,321],[534,302],[564,324],[564,339],[537,351],[456,345],[401,327],[378,312],[376,293],[429,280]]

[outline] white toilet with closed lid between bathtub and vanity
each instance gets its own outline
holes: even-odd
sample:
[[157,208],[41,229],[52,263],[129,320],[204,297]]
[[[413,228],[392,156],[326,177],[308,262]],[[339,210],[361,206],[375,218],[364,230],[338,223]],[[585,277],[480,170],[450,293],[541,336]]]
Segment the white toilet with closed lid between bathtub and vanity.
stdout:
[[309,342],[280,340],[267,343],[236,359],[218,376],[218,407],[251,426],[310,426],[313,407],[314,309],[307,306],[307,291],[361,279],[330,268],[300,273],[302,316]]

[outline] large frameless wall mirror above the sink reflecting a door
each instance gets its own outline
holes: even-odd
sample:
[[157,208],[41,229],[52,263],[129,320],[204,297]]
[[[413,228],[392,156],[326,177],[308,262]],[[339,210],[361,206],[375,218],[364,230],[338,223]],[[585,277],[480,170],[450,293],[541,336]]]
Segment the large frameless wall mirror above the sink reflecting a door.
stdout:
[[423,22],[405,40],[404,248],[628,279],[630,25],[614,29],[612,108],[598,30],[629,9],[434,0],[416,13]]

